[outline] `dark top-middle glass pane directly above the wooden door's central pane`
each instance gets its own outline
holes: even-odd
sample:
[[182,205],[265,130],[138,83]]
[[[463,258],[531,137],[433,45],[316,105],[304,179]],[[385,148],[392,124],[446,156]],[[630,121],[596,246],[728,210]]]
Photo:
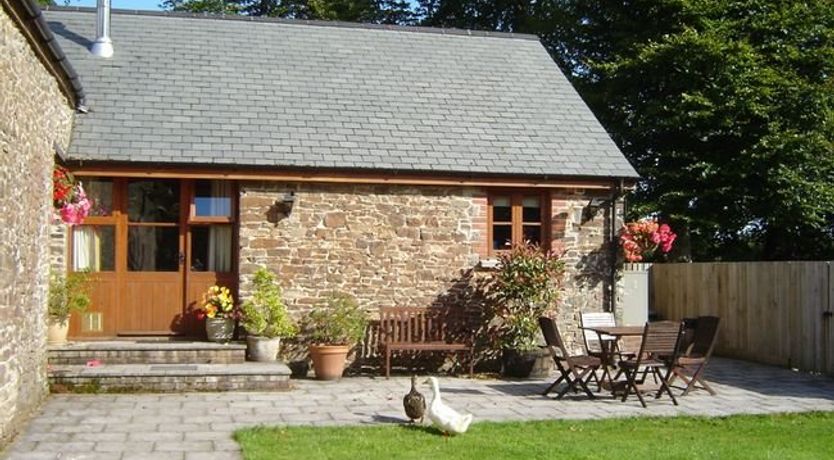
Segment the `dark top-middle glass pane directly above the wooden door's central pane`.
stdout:
[[180,181],[137,180],[127,184],[130,222],[178,222]]

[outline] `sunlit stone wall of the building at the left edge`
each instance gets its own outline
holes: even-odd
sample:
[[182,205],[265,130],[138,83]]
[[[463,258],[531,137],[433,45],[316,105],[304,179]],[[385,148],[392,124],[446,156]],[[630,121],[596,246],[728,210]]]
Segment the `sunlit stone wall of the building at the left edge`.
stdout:
[[47,394],[46,292],[53,142],[69,101],[0,9],[0,448]]

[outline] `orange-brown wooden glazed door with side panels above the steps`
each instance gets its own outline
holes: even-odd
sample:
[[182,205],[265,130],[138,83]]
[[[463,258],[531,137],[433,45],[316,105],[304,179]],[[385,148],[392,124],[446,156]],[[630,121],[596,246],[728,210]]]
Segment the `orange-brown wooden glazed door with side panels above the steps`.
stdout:
[[82,181],[97,205],[70,231],[69,269],[91,272],[92,304],[70,336],[203,335],[203,293],[218,284],[236,294],[236,184]]

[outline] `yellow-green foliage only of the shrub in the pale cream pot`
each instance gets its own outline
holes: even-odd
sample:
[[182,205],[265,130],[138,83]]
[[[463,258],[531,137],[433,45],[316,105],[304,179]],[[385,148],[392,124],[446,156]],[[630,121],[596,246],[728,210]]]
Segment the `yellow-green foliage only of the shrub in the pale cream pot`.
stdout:
[[298,330],[281,298],[281,287],[275,282],[275,274],[259,268],[254,284],[255,291],[241,306],[246,331],[261,337],[294,337]]

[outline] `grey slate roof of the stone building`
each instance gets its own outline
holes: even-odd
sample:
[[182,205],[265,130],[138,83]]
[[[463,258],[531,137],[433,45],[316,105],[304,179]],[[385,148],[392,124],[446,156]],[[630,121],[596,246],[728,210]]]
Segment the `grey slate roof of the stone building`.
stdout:
[[71,159],[636,177],[536,37],[45,12],[87,92]]

